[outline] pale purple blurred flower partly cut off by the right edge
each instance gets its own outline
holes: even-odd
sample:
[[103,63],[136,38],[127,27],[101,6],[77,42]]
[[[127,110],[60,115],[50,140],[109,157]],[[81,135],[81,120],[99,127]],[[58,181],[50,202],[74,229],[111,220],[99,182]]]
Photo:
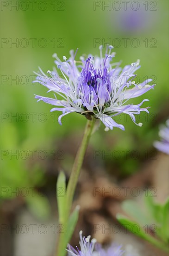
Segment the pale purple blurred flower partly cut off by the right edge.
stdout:
[[161,141],[155,141],[154,147],[169,155],[169,119],[166,121],[166,126],[161,126],[159,136]]

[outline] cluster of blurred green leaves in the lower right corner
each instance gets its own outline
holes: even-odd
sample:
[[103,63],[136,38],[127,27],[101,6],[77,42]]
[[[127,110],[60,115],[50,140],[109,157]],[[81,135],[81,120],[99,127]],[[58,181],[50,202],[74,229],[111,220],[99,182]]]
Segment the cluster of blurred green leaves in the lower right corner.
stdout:
[[[152,192],[148,190],[148,193],[144,196],[144,202],[147,210],[146,214],[142,212],[142,208],[137,202],[132,200],[122,202],[122,209],[138,223],[121,215],[118,215],[117,218],[123,225],[128,225],[126,228],[134,234],[136,233],[131,230],[131,225],[138,225],[140,227],[141,224],[142,227],[145,228],[145,233],[143,232],[143,229],[140,228],[137,235],[160,248],[163,246],[163,248],[167,250],[167,243],[169,242],[169,199],[165,204],[161,205],[155,202],[154,197],[151,195]],[[156,235],[156,237],[161,241],[150,236],[148,234],[148,230],[150,230],[150,235]],[[155,230],[156,233],[153,233]]]

